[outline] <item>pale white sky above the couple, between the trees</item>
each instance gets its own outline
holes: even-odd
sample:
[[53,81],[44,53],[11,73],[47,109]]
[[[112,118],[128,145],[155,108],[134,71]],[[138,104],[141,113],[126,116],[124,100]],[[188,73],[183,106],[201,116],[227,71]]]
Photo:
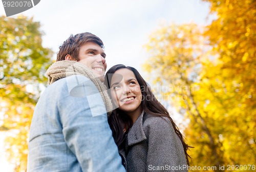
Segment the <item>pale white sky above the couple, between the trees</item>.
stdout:
[[[71,34],[91,32],[105,45],[107,70],[115,64],[124,64],[138,69],[145,79],[150,75],[141,67],[148,57],[143,45],[152,32],[161,24],[206,25],[213,18],[208,15],[209,4],[199,0],[41,0],[20,14],[40,22],[45,33],[42,44],[55,52],[53,59],[59,45]],[[1,3],[0,15],[6,16]],[[7,167],[1,152],[3,139],[0,133],[0,166],[1,171],[9,172],[11,167]]]

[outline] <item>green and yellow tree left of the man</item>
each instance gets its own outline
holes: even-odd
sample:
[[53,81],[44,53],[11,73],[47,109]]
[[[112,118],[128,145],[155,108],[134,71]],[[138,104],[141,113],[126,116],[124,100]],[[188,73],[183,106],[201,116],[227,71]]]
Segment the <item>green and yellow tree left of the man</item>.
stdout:
[[42,46],[40,23],[33,18],[0,17],[0,114],[5,151],[15,171],[26,171],[28,133],[52,51]]

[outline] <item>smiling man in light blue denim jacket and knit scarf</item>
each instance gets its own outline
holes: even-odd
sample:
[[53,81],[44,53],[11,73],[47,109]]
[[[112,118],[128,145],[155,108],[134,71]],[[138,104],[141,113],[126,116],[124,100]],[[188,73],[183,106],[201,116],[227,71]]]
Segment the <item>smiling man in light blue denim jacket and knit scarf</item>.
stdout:
[[81,33],[59,49],[33,114],[28,171],[124,172],[106,115],[103,42]]

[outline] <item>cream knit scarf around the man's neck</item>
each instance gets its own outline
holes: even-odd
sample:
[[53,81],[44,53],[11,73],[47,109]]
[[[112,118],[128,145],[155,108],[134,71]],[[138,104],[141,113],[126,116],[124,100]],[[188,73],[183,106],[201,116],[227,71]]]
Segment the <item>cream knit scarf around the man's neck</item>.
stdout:
[[49,84],[52,84],[61,78],[66,78],[72,75],[86,76],[98,88],[105,104],[106,112],[111,114],[113,106],[108,93],[106,93],[106,86],[102,84],[102,82],[94,75],[93,71],[86,65],[72,60],[57,61],[47,69],[46,74],[49,77]]

